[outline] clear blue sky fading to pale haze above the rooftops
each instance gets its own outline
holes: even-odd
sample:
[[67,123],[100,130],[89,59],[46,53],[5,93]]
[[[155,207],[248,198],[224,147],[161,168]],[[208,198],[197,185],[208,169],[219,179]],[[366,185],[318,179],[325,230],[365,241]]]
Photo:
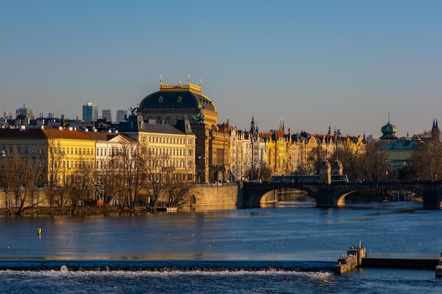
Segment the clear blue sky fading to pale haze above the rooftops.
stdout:
[[0,116],[82,118],[202,82],[218,123],[342,135],[442,128],[442,1],[0,0]]

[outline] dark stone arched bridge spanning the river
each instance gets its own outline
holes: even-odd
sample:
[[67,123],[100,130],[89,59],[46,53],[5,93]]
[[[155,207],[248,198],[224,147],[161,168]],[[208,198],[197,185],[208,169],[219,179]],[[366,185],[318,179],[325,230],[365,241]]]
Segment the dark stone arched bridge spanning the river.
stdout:
[[266,194],[278,189],[297,189],[307,192],[316,199],[316,207],[345,206],[345,197],[357,190],[402,190],[422,197],[424,209],[441,209],[442,181],[385,181],[350,184],[324,183],[244,183],[242,204],[244,208],[259,207],[260,203],[275,202],[265,200]]

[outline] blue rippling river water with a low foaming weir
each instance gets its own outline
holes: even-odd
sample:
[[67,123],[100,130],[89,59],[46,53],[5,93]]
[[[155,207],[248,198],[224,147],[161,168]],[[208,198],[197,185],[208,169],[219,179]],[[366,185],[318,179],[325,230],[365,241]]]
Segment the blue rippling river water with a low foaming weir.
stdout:
[[359,240],[368,252],[440,255],[441,217],[413,202],[3,216],[0,293],[442,293],[434,271],[333,274]]

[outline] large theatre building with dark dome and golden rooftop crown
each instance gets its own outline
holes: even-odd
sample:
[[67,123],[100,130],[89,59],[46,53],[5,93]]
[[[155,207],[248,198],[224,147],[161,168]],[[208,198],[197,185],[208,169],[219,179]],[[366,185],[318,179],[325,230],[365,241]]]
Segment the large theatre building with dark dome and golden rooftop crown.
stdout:
[[136,109],[143,121],[176,125],[189,119],[196,135],[194,157],[196,182],[227,180],[230,170],[230,137],[226,128],[218,125],[218,110],[210,98],[201,93],[200,85],[163,84],[160,90],[141,100]]

